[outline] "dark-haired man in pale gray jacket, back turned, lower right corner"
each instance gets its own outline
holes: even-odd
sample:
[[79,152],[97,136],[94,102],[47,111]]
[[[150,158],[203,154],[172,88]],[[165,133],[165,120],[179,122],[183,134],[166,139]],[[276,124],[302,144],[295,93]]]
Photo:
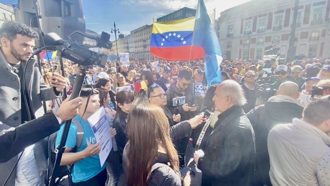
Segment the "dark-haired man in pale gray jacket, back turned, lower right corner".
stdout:
[[306,105],[302,119],[276,125],[268,134],[273,186],[330,185],[330,101]]

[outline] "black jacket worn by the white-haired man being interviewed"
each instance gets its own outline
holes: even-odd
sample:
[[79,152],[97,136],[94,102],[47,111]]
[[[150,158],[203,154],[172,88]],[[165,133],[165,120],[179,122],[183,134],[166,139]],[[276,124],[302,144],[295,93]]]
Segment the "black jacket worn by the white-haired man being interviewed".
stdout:
[[218,118],[198,161],[202,186],[253,186],[255,145],[249,120],[237,105]]

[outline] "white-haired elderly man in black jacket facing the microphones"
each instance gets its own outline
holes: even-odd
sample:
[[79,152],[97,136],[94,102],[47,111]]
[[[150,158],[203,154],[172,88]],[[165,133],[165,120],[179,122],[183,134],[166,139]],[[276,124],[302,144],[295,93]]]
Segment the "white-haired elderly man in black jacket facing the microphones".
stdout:
[[242,87],[225,80],[216,87],[213,101],[221,112],[207,142],[194,160],[202,170],[202,186],[253,186],[254,131],[242,109],[247,101]]

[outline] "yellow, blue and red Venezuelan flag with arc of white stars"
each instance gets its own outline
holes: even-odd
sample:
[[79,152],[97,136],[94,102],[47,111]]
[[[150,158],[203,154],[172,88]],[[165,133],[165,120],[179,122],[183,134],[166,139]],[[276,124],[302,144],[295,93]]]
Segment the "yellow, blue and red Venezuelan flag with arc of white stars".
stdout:
[[201,46],[192,46],[195,17],[168,22],[154,22],[150,52],[166,60],[184,61],[204,58]]

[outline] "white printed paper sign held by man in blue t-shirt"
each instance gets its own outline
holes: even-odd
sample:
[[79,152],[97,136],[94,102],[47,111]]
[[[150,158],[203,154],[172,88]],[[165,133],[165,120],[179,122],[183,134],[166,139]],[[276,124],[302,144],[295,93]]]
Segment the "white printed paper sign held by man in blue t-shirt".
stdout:
[[112,149],[110,125],[107,117],[105,116],[104,108],[101,107],[87,120],[92,127],[96,141],[101,144],[101,152],[99,152],[99,161],[102,167]]

